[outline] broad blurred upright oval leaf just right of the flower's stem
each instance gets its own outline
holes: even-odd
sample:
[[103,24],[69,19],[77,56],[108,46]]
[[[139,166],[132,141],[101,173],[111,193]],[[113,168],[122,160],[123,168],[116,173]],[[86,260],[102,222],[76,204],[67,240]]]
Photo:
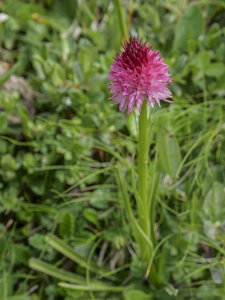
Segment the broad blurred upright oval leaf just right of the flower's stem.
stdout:
[[162,169],[175,178],[181,164],[180,147],[175,137],[170,137],[163,128],[157,135],[159,146],[159,163]]

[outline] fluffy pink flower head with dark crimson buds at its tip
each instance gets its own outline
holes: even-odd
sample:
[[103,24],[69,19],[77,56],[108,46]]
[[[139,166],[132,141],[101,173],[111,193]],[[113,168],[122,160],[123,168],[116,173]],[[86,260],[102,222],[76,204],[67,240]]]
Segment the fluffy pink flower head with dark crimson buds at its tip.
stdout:
[[172,79],[159,51],[142,44],[139,37],[130,37],[122,46],[123,51],[119,52],[109,73],[111,99],[119,104],[119,109],[129,114],[134,106],[140,112],[144,101],[152,107],[156,103],[160,106],[160,100],[171,102],[167,84]]

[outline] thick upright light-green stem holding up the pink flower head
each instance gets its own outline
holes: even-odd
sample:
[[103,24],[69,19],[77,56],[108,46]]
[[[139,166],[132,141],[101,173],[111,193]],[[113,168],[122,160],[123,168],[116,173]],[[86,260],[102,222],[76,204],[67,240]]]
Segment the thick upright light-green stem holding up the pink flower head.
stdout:
[[[155,243],[154,232],[154,196],[157,188],[155,180],[151,184],[151,191],[148,188],[148,167],[149,167],[149,146],[151,137],[150,116],[148,117],[147,103],[143,103],[139,116],[138,136],[138,217],[142,231],[149,238],[150,244]],[[155,168],[154,168],[155,171]],[[153,180],[153,176],[152,176]],[[151,194],[149,195],[149,192]],[[156,265],[153,264],[154,249],[146,247],[146,241],[142,238],[139,242],[141,255],[144,263],[148,266],[146,275],[155,286],[160,286]],[[151,262],[151,265],[149,265]]]

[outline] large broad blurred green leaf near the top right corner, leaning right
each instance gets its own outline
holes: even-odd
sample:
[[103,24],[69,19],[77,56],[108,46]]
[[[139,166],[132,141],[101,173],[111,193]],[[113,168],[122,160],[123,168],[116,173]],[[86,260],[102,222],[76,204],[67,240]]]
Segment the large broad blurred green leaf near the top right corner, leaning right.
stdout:
[[203,31],[203,17],[197,5],[191,5],[176,26],[174,48],[181,51],[187,49],[188,40],[197,40]]

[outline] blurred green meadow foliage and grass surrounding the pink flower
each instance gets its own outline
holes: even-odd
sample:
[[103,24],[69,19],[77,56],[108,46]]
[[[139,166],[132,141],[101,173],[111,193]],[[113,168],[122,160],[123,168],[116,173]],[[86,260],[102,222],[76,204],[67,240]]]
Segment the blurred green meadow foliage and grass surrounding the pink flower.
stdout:
[[[160,50],[174,79],[175,103],[154,109],[150,148],[154,164],[159,145],[156,231],[166,239],[157,253],[165,287],[153,291],[116,185],[137,135],[135,117],[107,101],[124,36],[119,3],[1,2],[0,299],[225,299],[225,4],[123,2],[128,31]],[[89,276],[46,244],[48,232],[134,287],[68,291],[32,271],[33,256]]]

